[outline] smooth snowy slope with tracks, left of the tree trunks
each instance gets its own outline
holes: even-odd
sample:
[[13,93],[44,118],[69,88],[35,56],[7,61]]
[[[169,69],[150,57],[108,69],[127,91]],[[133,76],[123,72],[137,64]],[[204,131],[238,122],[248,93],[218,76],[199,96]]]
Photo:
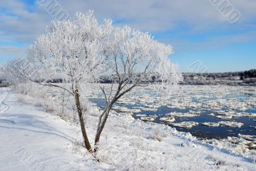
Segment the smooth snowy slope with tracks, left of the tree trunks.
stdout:
[[[6,94],[1,89],[2,102]],[[10,109],[0,115],[0,170],[102,170],[72,151],[76,128],[60,117],[17,103],[13,94],[4,102]]]

